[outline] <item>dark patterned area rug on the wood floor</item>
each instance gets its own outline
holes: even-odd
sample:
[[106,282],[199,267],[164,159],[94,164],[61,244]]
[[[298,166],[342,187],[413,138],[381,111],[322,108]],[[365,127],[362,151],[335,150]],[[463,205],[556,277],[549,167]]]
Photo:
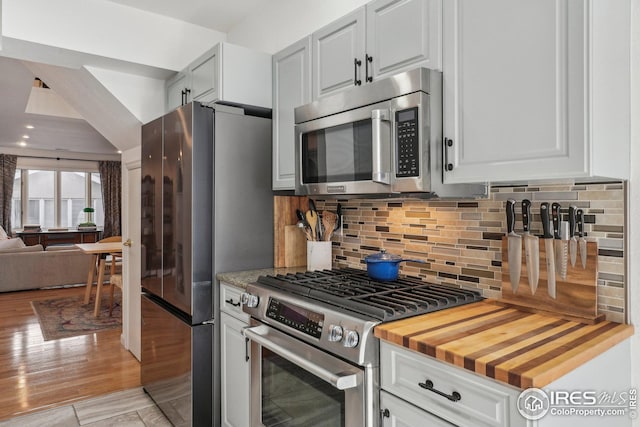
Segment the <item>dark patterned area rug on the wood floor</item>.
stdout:
[[101,298],[100,316],[93,316],[94,300],[84,305],[82,296],[31,301],[45,341],[87,335],[122,327],[120,295],[109,317],[109,294]]

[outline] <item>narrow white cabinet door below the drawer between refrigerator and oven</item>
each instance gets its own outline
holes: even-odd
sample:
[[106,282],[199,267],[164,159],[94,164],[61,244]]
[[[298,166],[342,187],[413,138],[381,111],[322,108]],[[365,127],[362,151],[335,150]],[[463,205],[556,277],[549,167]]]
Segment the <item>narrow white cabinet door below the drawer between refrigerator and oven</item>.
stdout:
[[223,426],[249,427],[249,347],[242,335],[247,324],[220,313],[220,380]]

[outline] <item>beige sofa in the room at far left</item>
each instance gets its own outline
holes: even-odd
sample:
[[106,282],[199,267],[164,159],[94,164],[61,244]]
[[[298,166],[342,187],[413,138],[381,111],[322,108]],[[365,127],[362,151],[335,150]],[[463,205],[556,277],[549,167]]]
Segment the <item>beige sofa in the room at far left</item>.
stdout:
[[0,292],[87,283],[92,259],[74,246],[0,249]]

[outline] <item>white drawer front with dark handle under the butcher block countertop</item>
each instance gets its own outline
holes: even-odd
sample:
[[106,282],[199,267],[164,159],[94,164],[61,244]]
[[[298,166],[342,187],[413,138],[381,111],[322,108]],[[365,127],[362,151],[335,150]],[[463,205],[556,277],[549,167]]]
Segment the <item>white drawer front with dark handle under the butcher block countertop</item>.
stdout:
[[[384,390],[454,424],[525,424],[515,409],[519,390],[384,341],[380,345],[380,366]],[[424,388],[428,381],[433,390]],[[458,393],[459,400],[449,400],[434,390],[448,396]]]

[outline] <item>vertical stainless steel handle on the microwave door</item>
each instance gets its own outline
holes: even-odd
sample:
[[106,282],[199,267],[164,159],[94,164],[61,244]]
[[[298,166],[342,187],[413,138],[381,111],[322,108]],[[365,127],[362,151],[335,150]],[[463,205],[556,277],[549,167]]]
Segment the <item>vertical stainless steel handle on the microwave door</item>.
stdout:
[[391,184],[391,122],[389,110],[371,111],[372,181]]

